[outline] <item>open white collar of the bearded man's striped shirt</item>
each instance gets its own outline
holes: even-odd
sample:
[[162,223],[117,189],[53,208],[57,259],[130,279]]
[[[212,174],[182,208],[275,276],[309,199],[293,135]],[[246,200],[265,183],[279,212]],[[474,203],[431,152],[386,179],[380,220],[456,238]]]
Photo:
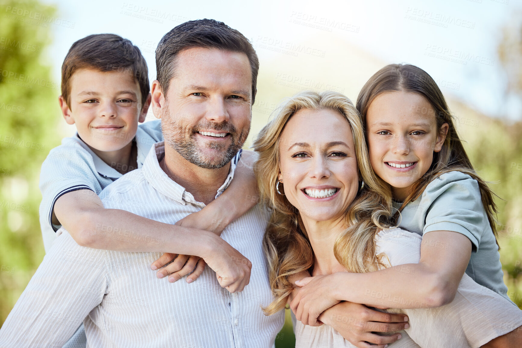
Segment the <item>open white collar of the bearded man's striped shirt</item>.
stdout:
[[[143,163],[143,167],[141,167],[141,171],[149,183],[158,193],[169,197],[176,202],[181,203],[182,205],[186,205],[187,203],[192,203],[194,205],[204,207],[205,204],[202,202],[198,202],[194,199],[194,196],[185,190],[183,186],[173,181],[167,173],[165,173],[159,164],[158,159],[162,159],[165,154],[165,143],[164,141],[155,143],[151,148],[150,152]],[[230,163],[230,170],[227,178],[225,179],[223,185],[219,187],[216,198],[219,197],[223,193],[223,191],[230,185],[234,177],[235,166],[238,163],[238,160],[241,156],[241,150],[235,157],[232,159]]]

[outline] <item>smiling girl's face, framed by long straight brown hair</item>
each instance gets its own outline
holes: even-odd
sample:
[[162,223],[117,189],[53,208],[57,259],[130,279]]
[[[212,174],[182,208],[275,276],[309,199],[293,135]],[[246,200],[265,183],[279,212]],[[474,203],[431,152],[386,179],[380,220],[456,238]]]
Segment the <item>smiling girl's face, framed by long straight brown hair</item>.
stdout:
[[433,152],[442,149],[448,124],[438,129],[435,110],[422,95],[379,94],[366,113],[370,162],[375,173],[403,201],[411,186],[430,169]]

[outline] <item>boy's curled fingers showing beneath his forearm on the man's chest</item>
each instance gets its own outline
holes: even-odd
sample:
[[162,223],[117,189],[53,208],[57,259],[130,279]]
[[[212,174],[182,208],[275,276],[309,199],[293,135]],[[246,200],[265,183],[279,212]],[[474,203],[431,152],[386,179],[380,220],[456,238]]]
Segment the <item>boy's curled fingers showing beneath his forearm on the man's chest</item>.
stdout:
[[[167,265],[167,263],[171,261],[172,263]],[[163,267],[165,265],[167,266]],[[156,273],[156,275],[158,278],[163,278],[170,274],[169,282],[171,283],[180,280],[185,277],[185,275],[192,272],[192,274],[187,277],[187,283],[192,283],[201,275],[201,273],[203,273],[205,265],[205,260],[198,256],[165,253],[161,255],[159,259],[154,261],[150,268],[156,270],[163,267]]]

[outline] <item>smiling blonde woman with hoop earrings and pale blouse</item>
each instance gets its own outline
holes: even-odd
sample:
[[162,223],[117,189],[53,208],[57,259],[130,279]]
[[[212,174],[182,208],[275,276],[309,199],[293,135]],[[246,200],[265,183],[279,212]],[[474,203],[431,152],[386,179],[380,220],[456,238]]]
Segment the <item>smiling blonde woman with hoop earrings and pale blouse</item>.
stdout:
[[[302,92],[255,140],[260,195],[273,209],[264,243],[275,301],[265,308],[267,314],[288,302],[293,274],[371,272],[419,262],[420,237],[387,229],[391,211],[379,194],[363,132],[345,96]],[[455,300],[438,308],[425,310],[430,304],[407,299],[383,302],[385,295],[376,294],[371,305],[421,308],[405,310],[411,327],[394,346],[478,347],[522,325],[518,308],[467,275]],[[483,311],[474,306],[478,303]],[[295,335],[297,347],[353,346],[328,326],[298,321]]]

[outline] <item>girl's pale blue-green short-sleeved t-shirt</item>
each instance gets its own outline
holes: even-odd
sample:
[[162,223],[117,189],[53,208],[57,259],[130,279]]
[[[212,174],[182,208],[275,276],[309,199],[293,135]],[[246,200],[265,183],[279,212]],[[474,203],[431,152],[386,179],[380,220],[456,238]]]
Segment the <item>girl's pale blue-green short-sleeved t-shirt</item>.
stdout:
[[[394,202],[395,209],[400,206],[401,203]],[[499,247],[482,205],[479,184],[471,176],[454,171],[435,178],[419,198],[401,211],[399,227],[421,236],[431,231],[464,234],[472,244],[466,274],[509,299]],[[434,247],[448,246],[440,244]]]

